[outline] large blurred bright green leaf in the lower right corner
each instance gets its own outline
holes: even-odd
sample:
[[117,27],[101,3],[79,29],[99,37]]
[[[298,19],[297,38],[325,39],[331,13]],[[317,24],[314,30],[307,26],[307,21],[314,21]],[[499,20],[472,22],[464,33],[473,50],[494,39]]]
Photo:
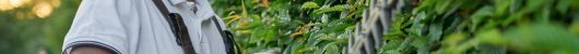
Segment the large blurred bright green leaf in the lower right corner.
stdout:
[[524,52],[578,53],[577,35],[568,32],[560,24],[528,23],[509,28],[505,36],[510,44]]

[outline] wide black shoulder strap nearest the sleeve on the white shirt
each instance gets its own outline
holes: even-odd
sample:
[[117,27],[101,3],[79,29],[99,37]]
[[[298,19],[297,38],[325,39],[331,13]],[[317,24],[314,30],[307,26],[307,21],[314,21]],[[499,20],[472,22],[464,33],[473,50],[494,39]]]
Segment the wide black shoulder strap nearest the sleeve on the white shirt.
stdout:
[[181,46],[185,54],[197,54],[194,52],[193,45],[191,44],[191,39],[189,38],[189,31],[187,31],[187,26],[182,22],[181,15],[177,13],[169,13],[163,0],[153,0],[157,6],[163,17],[169,22],[173,33],[177,38],[177,43]]

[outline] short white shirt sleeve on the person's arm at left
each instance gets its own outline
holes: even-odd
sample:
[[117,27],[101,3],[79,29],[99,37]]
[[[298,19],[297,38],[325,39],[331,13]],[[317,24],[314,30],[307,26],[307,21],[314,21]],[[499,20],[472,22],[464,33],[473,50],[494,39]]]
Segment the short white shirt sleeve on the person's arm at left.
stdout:
[[[83,0],[67,33],[62,54],[69,54],[79,46],[98,46],[115,54],[128,50],[127,18],[119,16],[116,0]],[[128,54],[128,53],[125,53]]]

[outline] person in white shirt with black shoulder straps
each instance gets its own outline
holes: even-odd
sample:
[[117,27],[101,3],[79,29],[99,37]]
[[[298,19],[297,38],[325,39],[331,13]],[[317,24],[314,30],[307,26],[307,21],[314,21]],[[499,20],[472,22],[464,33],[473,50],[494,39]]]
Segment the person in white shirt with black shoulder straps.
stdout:
[[[83,0],[63,54],[226,54],[223,22],[208,0]],[[165,10],[165,11],[164,11]],[[172,21],[168,13],[182,17]],[[172,16],[175,17],[175,16]],[[175,27],[175,23],[182,24]],[[185,29],[182,29],[185,28]],[[175,31],[184,30],[184,31]],[[181,32],[181,33],[176,33]],[[185,33],[185,35],[182,35]],[[179,36],[189,37],[187,40]],[[182,42],[189,42],[186,44]],[[184,45],[185,44],[185,45]],[[192,50],[187,50],[192,46]],[[189,52],[189,53],[188,53]],[[192,52],[192,53],[190,53]]]

